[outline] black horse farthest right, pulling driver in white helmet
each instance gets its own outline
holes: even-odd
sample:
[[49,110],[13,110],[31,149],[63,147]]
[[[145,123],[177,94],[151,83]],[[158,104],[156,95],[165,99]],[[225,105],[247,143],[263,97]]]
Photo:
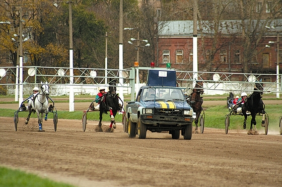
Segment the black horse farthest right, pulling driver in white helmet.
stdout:
[[[256,114],[260,113],[262,114],[262,121],[261,121],[261,126],[264,126],[264,122],[265,122],[265,105],[262,102],[261,98],[262,98],[262,94],[263,94],[263,84],[260,82],[257,82],[255,84],[254,87],[254,92],[247,97],[247,99],[245,99],[245,103],[242,107],[242,113],[245,117],[244,119],[244,125],[243,128],[246,128],[246,121],[247,121],[247,111],[249,111],[251,113],[252,116],[252,120],[251,120],[251,126],[250,126],[250,130],[248,131],[248,134],[257,134],[257,130],[256,130]],[[253,125],[254,125],[254,131],[253,131]]]

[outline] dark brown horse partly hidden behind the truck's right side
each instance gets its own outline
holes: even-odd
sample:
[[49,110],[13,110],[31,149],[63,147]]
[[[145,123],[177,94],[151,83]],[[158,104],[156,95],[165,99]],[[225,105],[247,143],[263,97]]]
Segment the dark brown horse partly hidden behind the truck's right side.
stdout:
[[196,118],[194,121],[196,125],[195,133],[198,133],[198,121],[199,121],[199,116],[202,111],[203,99],[200,96],[200,94],[203,94],[203,82],[196,81],[195,88],[193,89],[192,93],[187,98],[188,104],[193,108],[193,111],[196,113]]

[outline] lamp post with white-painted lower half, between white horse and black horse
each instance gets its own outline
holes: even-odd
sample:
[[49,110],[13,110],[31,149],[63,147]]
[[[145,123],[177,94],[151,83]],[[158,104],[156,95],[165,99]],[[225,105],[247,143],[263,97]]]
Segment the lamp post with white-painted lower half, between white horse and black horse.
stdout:
[[54,7],[58,7],[57,3],[68,4],[68,24],[69,24],[69,112],[75,111],[75,95],[74,95],[74,51],[73,51],[73,17],[72,17],[72,1],[53,2]]

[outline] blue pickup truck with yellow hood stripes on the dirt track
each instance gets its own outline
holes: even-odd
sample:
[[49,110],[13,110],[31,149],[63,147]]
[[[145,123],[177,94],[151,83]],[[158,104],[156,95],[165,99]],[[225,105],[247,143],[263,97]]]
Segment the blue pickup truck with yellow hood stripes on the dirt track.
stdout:
[[150,130],[169,131],[172,139],[179,139],[181,132],[184,139],[191,139],[193,109],[186,102],[183,89],[176,87],[176,76],[170,77],[175,72],[152,71],[149,71],[147,85],[139,89],[136,100],[126,105],[127,122],[124,125],[128,137],[134,138],[137,134],[139,139],[144,139]]

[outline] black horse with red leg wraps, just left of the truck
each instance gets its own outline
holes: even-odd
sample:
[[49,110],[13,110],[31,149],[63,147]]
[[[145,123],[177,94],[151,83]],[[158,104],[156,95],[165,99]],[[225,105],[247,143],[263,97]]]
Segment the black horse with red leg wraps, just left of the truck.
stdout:
[[109,85],[109,92],[100,97],[100,121],[98,125],[100,129],[102,125],[103,113],[108,114],[108,112],[110,112],[111,117],[110,129],[116,128],[114,117],[117,114],[117,111],[122,109],[122,105],[120,105],[118,102],[118,100],[121,99],[116,93],[116,82],[110,79]]

